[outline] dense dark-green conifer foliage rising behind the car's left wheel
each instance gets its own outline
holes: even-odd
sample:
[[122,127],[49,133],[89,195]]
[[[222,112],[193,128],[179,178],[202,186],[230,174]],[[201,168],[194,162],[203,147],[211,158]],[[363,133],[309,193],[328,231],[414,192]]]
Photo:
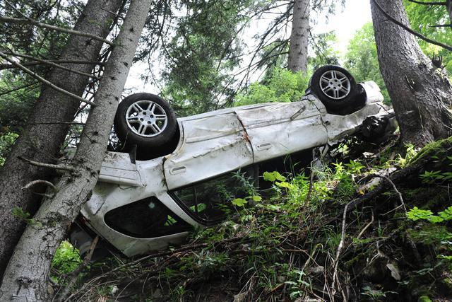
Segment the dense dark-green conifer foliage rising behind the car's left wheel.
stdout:
[[249,0],[185,1],[174,37],[165,48],[163,96],[179,116],[232,103],[232,70],[242,43],[236,30],[248,18]]

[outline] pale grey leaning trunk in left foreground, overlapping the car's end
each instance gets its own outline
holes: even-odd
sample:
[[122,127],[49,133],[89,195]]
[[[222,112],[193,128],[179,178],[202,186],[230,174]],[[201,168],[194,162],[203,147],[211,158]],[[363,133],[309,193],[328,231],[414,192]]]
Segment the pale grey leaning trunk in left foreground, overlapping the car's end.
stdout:
[[97,182],[114,113],[148,16],[150,1],[131,1],[95,95],[97,106],[90,111],[72,160],[76,171],[63,175],[58,183],[59,192],[44,201],[34,217],[35,222],[25,229],[6,268],[0,301],[11,298],[15,298],[14,301],[49,300],[47,278],[52,256]]

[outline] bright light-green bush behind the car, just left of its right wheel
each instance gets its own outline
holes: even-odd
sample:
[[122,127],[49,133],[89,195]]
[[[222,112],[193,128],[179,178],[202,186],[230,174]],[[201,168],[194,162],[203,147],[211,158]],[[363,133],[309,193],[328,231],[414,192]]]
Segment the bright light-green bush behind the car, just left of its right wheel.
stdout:
[[308,83],[309,76],[301,72],[293,74],[287,69],[274,69],[265,83],[252,83],[247,93],[237,95],[234,105],[295,102],[302,98]]

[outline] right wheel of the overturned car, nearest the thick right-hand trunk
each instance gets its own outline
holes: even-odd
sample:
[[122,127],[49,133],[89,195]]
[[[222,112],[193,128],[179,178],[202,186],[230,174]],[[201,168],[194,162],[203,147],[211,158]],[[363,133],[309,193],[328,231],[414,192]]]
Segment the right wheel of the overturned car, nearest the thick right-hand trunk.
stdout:
[[350,72],[335,65],[322,66],[314,71],[309,88],[329,113],[337,115],[361,109],[367,99],[364,88],[356,83]]

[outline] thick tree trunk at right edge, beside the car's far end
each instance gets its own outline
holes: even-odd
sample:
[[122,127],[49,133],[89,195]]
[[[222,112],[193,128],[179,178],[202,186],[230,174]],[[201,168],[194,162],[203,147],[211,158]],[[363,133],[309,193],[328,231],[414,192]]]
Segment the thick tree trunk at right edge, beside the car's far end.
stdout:
[[[390,16],[409,25],[402,0],[381,1]],[[422,53],[415,37],[389,21],[371,1],[381,74],[403,141],[423,146],[452,135],[452,86]]]

